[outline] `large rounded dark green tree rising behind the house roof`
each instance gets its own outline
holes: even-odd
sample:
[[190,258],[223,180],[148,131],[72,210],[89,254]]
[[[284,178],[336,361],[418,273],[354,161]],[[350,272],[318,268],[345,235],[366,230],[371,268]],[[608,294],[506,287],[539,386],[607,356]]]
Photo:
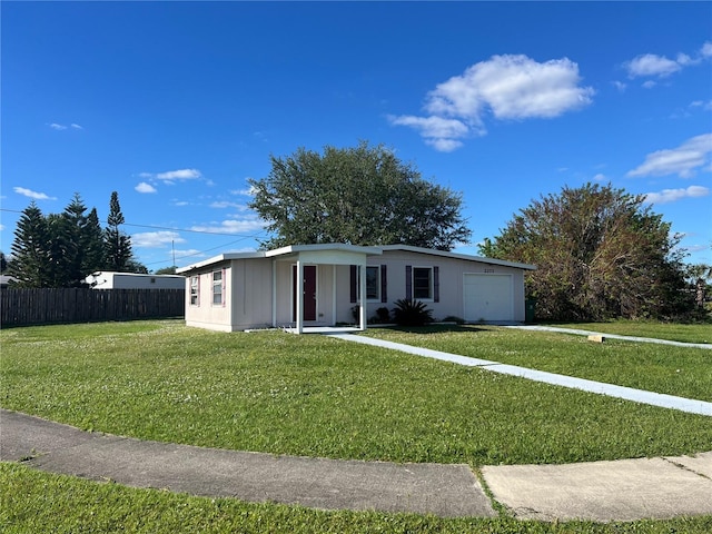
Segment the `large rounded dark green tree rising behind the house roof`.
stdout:
[[392,150],[299,148],[271,156],[271,171],[253,179],[249,207],[273,234],[263,247],[296,244],[413,245],[449,250],[471,237],[462,195],[421,177]]

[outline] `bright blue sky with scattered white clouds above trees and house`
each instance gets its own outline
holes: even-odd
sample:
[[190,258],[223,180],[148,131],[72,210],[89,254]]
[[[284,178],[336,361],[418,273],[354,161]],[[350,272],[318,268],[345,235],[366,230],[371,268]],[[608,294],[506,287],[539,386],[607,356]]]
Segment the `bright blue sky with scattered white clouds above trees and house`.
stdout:
[[710,2],[0,4],[1,231],[112,190],[156,270],[266,238],[248,178],[390,147],[462,191],[476,254],[541,195],[647,195],[712,263]]

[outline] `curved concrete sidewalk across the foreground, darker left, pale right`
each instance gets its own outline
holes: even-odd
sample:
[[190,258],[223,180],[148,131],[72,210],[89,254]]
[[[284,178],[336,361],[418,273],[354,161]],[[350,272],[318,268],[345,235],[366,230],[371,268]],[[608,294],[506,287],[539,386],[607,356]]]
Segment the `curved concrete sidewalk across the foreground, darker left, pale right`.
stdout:
[[[96,481],[323,510],[495,517],[467,465],[244,453],[86,433],[0,411],[0,459]],[[599,522],[712,515],[712,452],[567,465],[485,466],[517,518]]]

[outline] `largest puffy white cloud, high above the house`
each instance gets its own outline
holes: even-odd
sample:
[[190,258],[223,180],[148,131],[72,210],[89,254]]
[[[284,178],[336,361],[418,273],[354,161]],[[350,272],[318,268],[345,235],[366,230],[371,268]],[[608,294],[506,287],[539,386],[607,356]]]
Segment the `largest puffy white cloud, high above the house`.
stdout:
[[487,113],[501,120],[553,118],[592,102],[594,90],[580,87],[578,66],[567,58],[540,63],[526,56],[493,56],[428,92],[427,117],[388,116],[394,126],[417,130],[441,151],[459,139],[484,136]]

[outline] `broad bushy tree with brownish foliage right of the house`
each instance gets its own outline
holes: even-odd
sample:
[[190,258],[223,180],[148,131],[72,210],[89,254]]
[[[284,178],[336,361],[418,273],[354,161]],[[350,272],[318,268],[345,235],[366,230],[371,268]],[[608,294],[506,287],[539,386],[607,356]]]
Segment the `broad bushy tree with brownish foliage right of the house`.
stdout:
[[666,317],[689,312],[679,236],[611,185],[564,187],[534,200],[481,251],[531,263],[527,293],[548,319]]

